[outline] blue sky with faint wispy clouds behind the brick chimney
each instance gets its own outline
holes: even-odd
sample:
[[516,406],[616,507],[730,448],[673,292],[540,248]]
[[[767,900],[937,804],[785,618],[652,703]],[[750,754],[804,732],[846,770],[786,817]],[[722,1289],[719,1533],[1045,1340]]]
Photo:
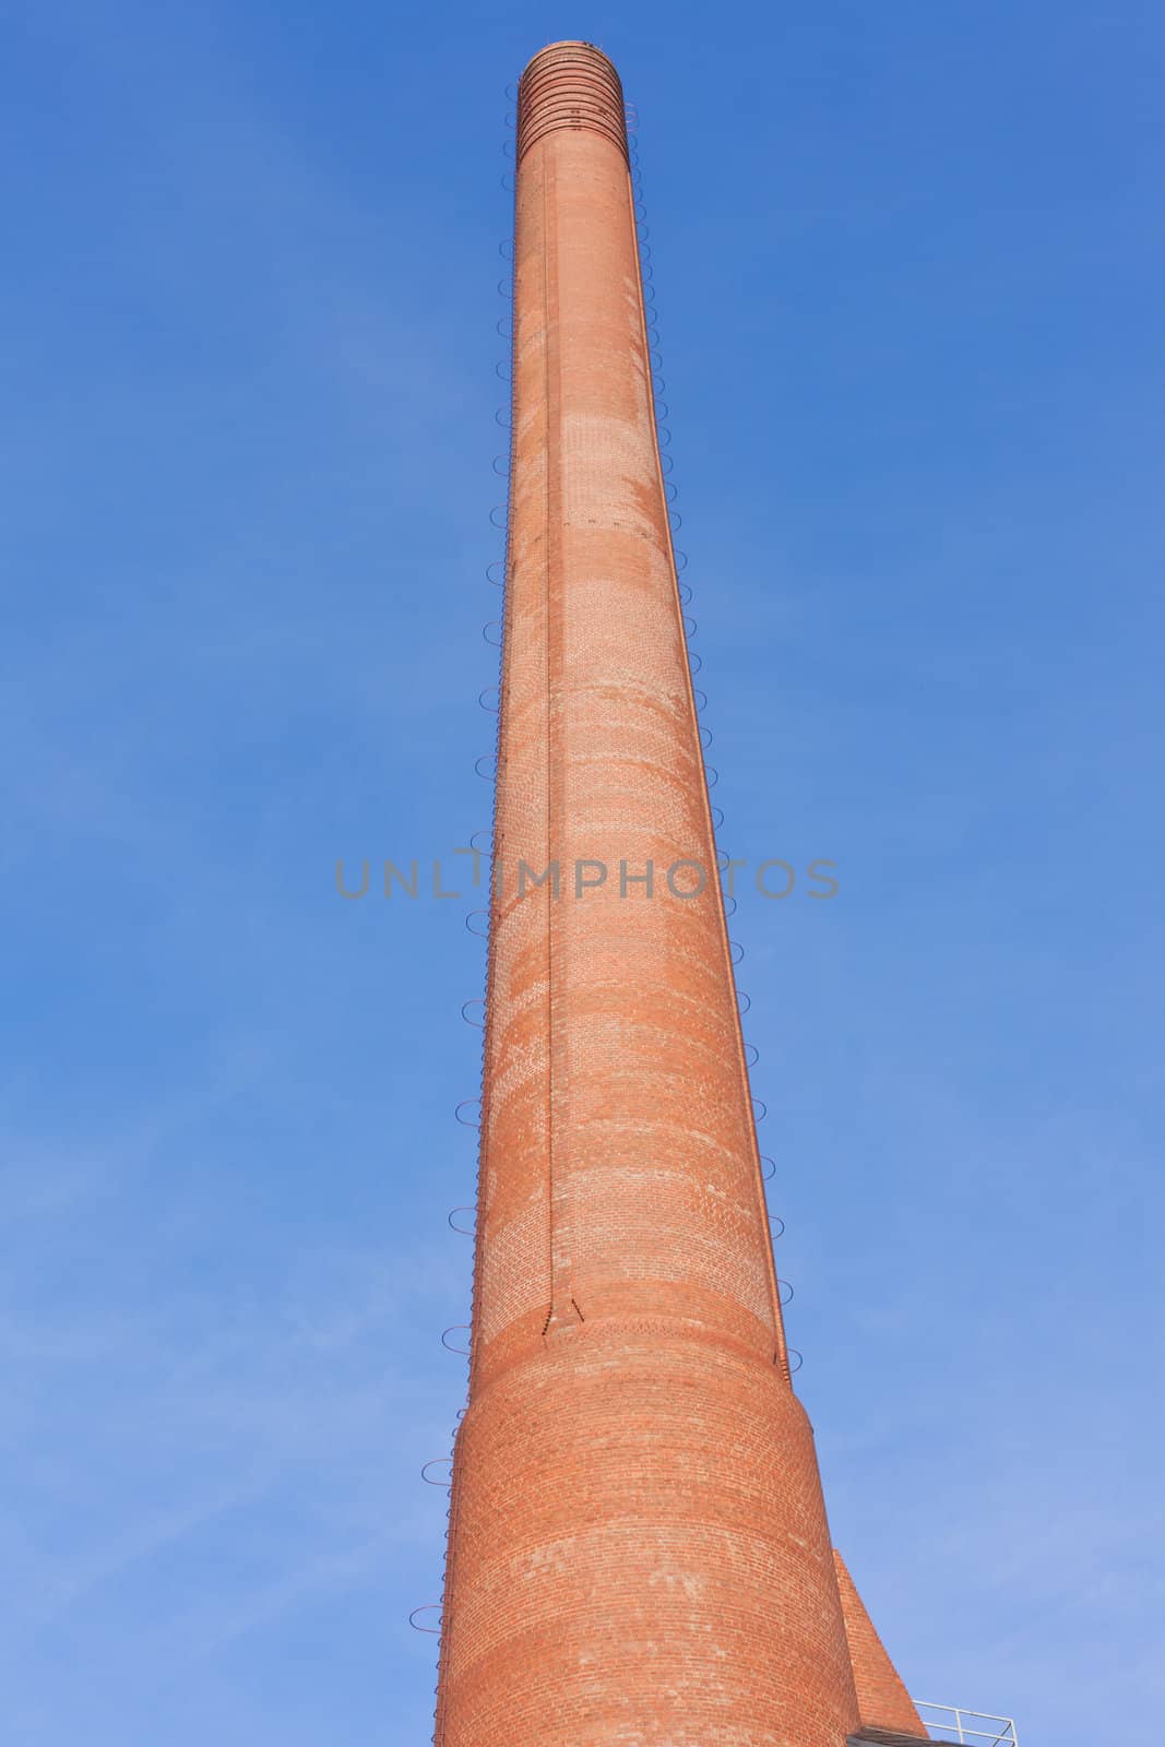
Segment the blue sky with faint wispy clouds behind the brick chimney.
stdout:
[[[1165,19],[12,0],[0,1733],[416,1747],[505,86],[639,150],[755,1090],[912,1691],[1155,1738]],[[1120,1723],[1120,1730],[1118,1730]]]

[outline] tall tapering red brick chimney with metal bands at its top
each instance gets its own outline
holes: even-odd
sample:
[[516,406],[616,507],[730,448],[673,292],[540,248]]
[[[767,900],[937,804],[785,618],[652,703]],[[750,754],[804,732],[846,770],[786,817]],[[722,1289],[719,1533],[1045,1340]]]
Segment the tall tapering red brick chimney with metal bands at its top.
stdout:
[[844,1747],[861,1717],[781,1326],[624,98],[585,42],[519,87],[494,870],[437,1747]]

